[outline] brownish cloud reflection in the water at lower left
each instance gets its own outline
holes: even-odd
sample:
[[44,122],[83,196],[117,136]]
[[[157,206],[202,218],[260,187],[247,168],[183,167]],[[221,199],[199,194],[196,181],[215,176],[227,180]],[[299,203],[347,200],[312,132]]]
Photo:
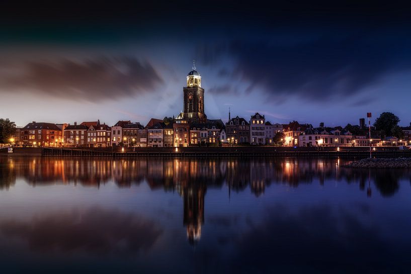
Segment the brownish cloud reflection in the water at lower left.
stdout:
[[151,220],[102,208],[48,214],[30,222],[3,221],[0,231],[27,241],[35,251],[83,251],[92,255],[147,251],[162,233]]

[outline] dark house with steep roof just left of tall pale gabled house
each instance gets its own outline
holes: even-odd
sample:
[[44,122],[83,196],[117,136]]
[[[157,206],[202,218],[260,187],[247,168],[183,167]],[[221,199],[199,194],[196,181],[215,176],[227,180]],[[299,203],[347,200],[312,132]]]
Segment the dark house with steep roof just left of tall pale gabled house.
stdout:
[[233,144],[250,143],[250,124],[244,118],[235,117],[225,123],[227,140]]

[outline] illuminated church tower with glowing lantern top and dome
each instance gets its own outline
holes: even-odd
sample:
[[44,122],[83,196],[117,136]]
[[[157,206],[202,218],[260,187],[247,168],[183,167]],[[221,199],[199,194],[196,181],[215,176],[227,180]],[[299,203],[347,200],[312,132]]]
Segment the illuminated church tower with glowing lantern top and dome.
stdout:
[[204,89],[201,87],[201,76],[196,70],[187,74],[187,86],[183,88],[183,109],[177,120],[185,120],[189,123],[205,123],[207,116],[204,114]]

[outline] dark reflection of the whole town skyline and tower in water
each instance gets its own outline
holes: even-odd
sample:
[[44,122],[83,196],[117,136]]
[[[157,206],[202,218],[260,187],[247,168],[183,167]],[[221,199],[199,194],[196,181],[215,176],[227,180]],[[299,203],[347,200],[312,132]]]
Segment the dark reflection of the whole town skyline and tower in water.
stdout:
[[[119,188],[147,184],[151,190],[177,191],[183,198],[183,225],[190,243],[201,238],[205,222],[204,199],[207,188],[232,192],[250,191],[264,195],[271,184],[296,188],[333,180],[358,184],[370,195],[371,184],[382,196],[394,195],[400,178],[411,177],[409,170],[358,170],[339,167],[340,159],[302,158],[0,158],[0,191],[11,189],[18,179],[29,185],[80,184],[100,188],[115,182]],[[368,184],[367,184],[368,183]],[[366,185],[367,188],[365,187]],[[367,190],[365,190],[367,189]]]

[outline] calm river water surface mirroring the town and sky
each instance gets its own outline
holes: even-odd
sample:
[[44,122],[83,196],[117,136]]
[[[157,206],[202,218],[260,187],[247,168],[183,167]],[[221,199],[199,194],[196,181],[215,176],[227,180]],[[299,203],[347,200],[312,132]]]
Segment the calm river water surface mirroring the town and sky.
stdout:
[[410,273],[411,170],[0,157],[1,273]]

